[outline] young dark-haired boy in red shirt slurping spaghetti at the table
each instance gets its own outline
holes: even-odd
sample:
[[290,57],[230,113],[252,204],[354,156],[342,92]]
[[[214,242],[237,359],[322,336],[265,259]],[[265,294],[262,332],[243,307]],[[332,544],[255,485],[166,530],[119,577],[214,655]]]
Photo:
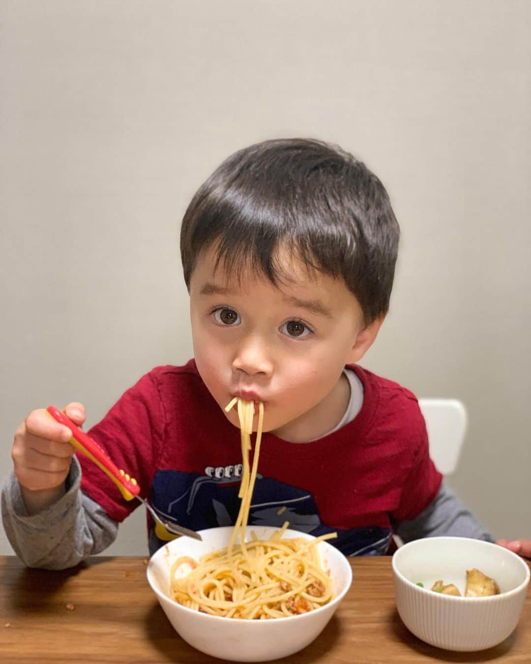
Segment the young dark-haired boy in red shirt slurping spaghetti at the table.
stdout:
[[[241,449],[224,408],[263,402],[249,524],[337,531],[347,555],[384,554],[393,532],[492,540],[442,484],[414,395],[357,365],[388,310],[398,233],[379,179],[341,149],[294,139],[235,153],[182,224],[194,359],[143,376],[89,435],[176,523],[231,525]],[[84,422],[81,404],[66,414]],[[77,564],[139,507],[72,457],[69,436],[43,410],[15,435],[2,510],[29,566]],[[152,553],[167,535],[148,523]]]

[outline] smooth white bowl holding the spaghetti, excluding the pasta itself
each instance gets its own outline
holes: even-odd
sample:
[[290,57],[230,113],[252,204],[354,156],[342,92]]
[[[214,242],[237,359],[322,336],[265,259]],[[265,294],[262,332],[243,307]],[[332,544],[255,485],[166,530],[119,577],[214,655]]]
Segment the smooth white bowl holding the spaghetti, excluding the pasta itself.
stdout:
[[[251,531],[259,539],[268,539],[276,528],[265,526],[247,527],[247,539]],[[194,648],[221,659],[241,662],[268,661],[288,657],[311,643],[324,629],[333,616],[339,602],[350,588],[352,570],[349,561],[335,547],[320,542],[319,552],[325,570],[330,570],[334,598],[321,608],[292,618],[272,620],[242,620],[210,616],[181,606],[170,599],[170,568],[176,558],[200,556],[227,546],[233,528],[211,528],[200,531],[202,542],[180,537],[162,546],[150,559],[147,578],[154,590],[160,606],[168,620],[180,636]],[[312,535],[287,530],[284,537],[304,537]]]

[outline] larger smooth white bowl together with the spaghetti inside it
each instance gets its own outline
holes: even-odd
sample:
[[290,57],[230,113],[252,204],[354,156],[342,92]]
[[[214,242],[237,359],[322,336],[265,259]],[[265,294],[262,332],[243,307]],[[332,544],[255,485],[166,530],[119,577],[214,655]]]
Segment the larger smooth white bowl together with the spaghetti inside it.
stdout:
[[[200,531],[202,542],[180,537],[165,544],[149,561],[148,582],[180,636],[207,655],[243,662],[288,657],[333,616],[351,585],[349,561],[312,535],[286,530],[278,542],[278,529],[249,526],[245,552],[235,544],[230,564],[217,557],[195,566],[202,556],[226,550],[233,530],[208,529]],[[266,570],[271,562],[272,573]],[[261,587],[249,587],[251,576]]]

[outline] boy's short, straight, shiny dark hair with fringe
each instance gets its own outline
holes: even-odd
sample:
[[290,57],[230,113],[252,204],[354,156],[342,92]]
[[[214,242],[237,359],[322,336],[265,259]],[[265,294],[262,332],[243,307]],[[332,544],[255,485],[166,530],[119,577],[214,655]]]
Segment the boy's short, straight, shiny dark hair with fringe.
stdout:
[[215,244],[217,263],[251,268],[277,286],[287,248],[309,270],[344,280],[369,324],[387,312],[398,223],[381,181],[351,154],[312,139],[276,139],[239,150],[200,187],[181,228],[184,280]]

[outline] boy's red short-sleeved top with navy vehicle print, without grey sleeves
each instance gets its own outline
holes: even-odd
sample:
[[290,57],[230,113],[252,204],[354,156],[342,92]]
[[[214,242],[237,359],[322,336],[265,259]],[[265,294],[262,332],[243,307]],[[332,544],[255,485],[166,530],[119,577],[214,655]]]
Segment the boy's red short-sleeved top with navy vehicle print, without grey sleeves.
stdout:
[[[391,520],[418,516],[436,497],[442,475],[430,459],[415,396],[359,366],[351,369],[363,383],[354,420],[305,444],[263,434],[249,525],[289,521],[312,535],[336,531],[331,543],[345,554],[382,554]],[[137,479],[141,495],[177,523],[200,530],[235,522],[239,429],[225,418],[193,360],[143,376],[89,435]],[[86,457],[78,458],[82,489],[111,518],[122,521],[138,507]],[[160,543],[151,532],[151,548]]]

